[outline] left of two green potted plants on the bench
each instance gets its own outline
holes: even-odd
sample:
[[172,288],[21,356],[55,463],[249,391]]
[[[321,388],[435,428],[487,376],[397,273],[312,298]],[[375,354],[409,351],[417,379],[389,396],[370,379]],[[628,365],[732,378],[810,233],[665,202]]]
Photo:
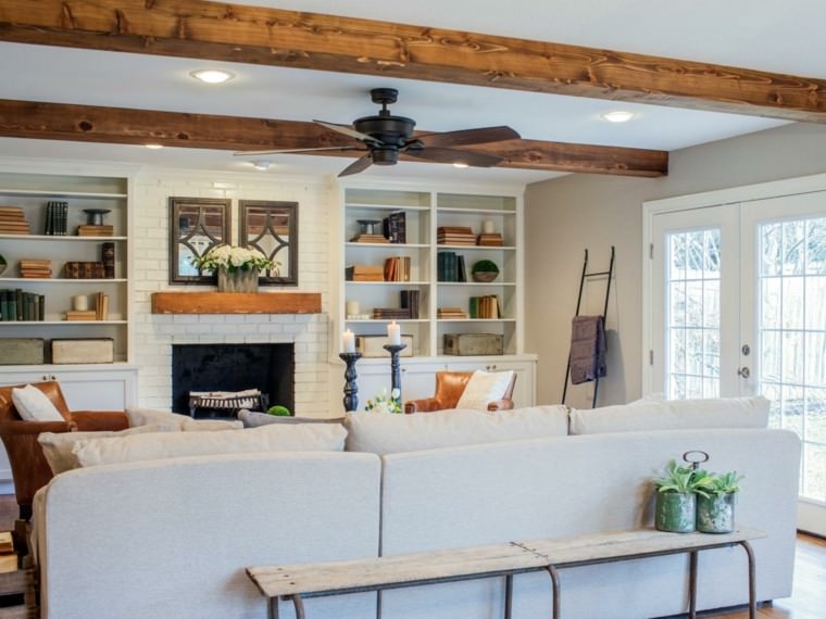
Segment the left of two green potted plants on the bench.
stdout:
[[654,526],[659,531],[690,533],[697,527],[697,495],[712,483],[709,473],[693,466],[677,466],[672,459],[662,476],[654,478],[656,503]]

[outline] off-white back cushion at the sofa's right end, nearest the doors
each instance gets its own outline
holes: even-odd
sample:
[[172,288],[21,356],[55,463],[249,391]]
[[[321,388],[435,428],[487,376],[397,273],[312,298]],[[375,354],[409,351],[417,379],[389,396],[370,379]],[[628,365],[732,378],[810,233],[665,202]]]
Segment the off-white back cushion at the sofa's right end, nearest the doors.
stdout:
[[636,430],[702,428],[765,428],[769,402],[765,397],[664,400],[601,408],[571,410],[572,434],[601,434]]

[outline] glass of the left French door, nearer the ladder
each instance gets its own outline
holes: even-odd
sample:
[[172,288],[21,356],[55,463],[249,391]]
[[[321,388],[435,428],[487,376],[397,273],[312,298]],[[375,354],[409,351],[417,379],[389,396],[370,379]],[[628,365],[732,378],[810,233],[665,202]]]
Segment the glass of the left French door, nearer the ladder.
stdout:
[[719,395],[719,228],[666,236],[667,396]]

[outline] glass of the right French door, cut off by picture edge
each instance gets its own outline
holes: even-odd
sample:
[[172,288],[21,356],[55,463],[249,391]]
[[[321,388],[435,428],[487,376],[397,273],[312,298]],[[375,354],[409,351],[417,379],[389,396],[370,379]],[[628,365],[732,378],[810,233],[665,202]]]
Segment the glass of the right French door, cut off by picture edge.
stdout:
[[801,494],[826,503],[826,217],[759,225],[760,393],[803,441]]

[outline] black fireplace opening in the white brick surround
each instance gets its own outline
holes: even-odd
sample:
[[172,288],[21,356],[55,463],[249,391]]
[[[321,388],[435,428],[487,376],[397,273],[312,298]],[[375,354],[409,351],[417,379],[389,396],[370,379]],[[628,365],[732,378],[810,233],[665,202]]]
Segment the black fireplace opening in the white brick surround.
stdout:
[[259,390],[270,406],[295,414],[292,344],[173,344],[172,410],[195,417],[228,417],[234,408],[190,408],[190,392]]

